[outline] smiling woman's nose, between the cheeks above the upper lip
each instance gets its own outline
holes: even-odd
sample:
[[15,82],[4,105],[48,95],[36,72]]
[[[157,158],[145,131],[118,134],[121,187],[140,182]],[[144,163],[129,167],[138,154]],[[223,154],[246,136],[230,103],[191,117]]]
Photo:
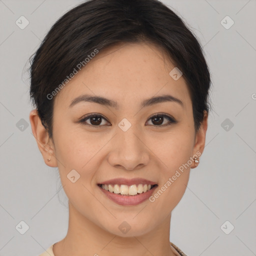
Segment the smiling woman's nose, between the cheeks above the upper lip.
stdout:
[[141,168],[149,162],[149,148],[145,137],[135,125],[123,131],[117,127],[116,134],[109,145],[108,162],[110,165],[126,170]]

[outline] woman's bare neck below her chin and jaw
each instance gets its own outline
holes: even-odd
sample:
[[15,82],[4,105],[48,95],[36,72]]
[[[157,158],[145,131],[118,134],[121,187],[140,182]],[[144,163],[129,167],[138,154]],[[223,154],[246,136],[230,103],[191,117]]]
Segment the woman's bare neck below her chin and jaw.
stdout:
[[66,236],[54,244],[55,256],[76,255],[178,255],[169,243],[170,217],[150,232],[137,236],[121,237],[81,215],[69,202],[69,220]]

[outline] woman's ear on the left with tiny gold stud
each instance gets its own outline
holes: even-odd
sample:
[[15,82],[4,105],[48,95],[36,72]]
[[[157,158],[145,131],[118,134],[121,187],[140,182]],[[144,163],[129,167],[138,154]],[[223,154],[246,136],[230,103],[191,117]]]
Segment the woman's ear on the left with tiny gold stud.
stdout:
[[[37,109],[33,109],[32,111],[30,111],[29,120],[33,136],[37,142],[38,148],[42,154],[45,164],[50,167],[57,167],[53,141],[49,138],[47,130],[42,125],[41,119],[37,113]],[[50,160],[47,161],[46,159],[49,158]]]

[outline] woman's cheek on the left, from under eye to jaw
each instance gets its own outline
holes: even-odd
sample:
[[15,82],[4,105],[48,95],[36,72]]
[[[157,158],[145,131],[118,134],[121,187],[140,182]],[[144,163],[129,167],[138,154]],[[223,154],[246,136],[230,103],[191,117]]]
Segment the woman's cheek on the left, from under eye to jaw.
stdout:
[[[68,135],[58,133],[56,137],[56,157],[58,159],[59,176],[68,200],[80,212],[86,207],[93,207],[91,200],[93,187],[91,182],[97,169],[95,156],[98,146],[90,145],[86,138],[69,132]],[[92,144],[93,145],[93,144]],[[102,147],[102,146],[101,146]],[[93,184],[95,185],[95,184]],[[95,205],[94,205],[95,207]]]

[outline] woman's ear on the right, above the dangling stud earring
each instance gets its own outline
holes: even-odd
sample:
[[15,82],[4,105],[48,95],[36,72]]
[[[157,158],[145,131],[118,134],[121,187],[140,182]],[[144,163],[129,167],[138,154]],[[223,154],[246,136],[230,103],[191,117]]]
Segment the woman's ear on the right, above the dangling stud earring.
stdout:
[[[201,122],[201,125],[200,125],[198,131],[195,134],[195,142],[194,142],[194,148],[193,148],[194,155],[198,155],[199,157],[202,154],[204,145],[205,145],[207,121],[208,121],[208,112],[206,110],[204,110],[203,111],[203,120]],[[198,152],[200,152],[200,154]],[[191,168],[195,168],[195,167],[196,167],[195,165],[191,166]]]

